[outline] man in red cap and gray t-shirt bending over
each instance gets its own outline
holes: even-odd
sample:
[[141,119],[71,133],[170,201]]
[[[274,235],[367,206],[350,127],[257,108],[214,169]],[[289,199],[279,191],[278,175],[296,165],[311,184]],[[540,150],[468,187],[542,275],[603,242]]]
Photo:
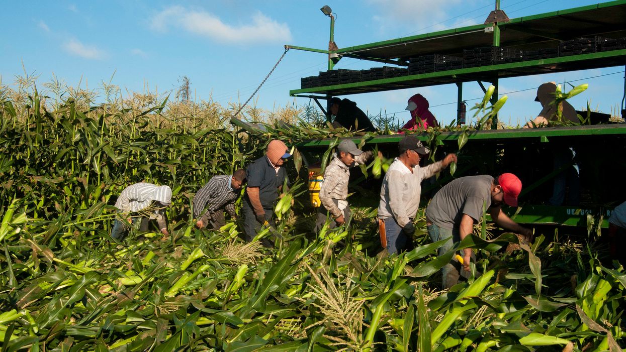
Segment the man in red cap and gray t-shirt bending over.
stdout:
[[[530,239],[533,232],[511,220],[501,211],[504,202],[508,206],[517,206],[517,197],[521,192],[521,181],[510,173],[497,178],[489,175],[466,176],[446,184],[434,195],[426,208],[428,235],[435,241],[448,239],[438,249],[438,254],[448,252],[455,244],[472,233],[474,224],[483,216],[483,206],[491,214],[491,219],[498,226]],[[441,269],[443,288],[450,288],[458,283],[459,276],[469,272],[470,248],[463,249],[463,271],[456,258]]]

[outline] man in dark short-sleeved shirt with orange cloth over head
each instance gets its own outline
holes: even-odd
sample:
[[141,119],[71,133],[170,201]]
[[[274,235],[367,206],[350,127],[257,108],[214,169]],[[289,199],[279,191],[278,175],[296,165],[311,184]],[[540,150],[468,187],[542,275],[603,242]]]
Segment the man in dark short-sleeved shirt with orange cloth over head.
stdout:
[[[242,209],[246,241],[252,241],[261,225],[272,220],[276,199],[287,178],[283,165],[290,156],[285,143],[274,139],[268,144],[265,155],[256,159],[245,171],[248,185]],[[273,246],[268,239],[263,239],[262,243],[266,247]]]

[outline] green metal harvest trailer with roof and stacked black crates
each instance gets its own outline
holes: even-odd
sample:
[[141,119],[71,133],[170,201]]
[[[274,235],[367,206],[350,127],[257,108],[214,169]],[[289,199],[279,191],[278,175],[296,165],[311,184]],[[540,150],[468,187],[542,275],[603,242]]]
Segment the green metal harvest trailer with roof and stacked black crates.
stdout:
[[[328,51],[296,46],[285,46],[285,48],[326,53],[329,59],[329,69],[332,69],[333,64],[342,58],[408,66],[409,58],[423,54],[459,55],[464,49],[481,46],[493,45],[528,51],[558,48],[560,41],[585,36],[623,38],[626,37],[625,18],[626,0],[515,19],[508,19],[500,11],[499,2],[496,1],[496,11],[492,12],[485,24],[349,48],[336,48],[332,41],[334,18],[331,14],[331,43],[329,43]],[[324,111],[319,101],[332,96],[456,84],[460,113],[464,83],[475,81],[483,89],[485,89],[483,82],[493,84],[496,87],[496,93],[492,99],[496,101],[498,81],[501,78],[607,68],[625,64],[626,49],[594,50],[569,56],[293,89],[290,91],[290,96],[312,98]],[[492,126],[496,128],[497,123],[492,123]],[[418,136],[424,141],[429,141],[431,145],[438,146],[438,153],[451,153],[458,149],[457,139],[460,135],[461,132],[443,132],[434,136],[425,133]],[[399,135],[376,136],[367,139],[366,144],[377,144],[381,149],[393,151],[401,137]],[[360,142],[357,137],[354,140]],[[316,154],[326,149],[329,143],[331,139],[309,140],[302,141],[298,147],[305,153]],[[552,153],[558,148],[573,148],[577,153],[577,158],[570,164],[557,169],[553,168]],[[505,171],[518,174],[525,184],[523,194],[520,196],[521,206],[516,213],[515,209],[509,210],[516,221],[521,223],[587,226],[588,215],[592,215],[595,218],[603,216],[603,224],[606,226],[606,219],[613,206],[626,200],[626,188],[621,181],[623,175],[626,174],[625,155],[625,124],[468,131],[468,143],[461,150],[462,158],[459,160],[454,177],[478,173],[498,174]],[[582,185],[580,206],[545,205],[552,192],[553,178],[574,163],[580,170]],[[452,177],[448,176],[448,179],[444,178],[439,181],[445,183]]]

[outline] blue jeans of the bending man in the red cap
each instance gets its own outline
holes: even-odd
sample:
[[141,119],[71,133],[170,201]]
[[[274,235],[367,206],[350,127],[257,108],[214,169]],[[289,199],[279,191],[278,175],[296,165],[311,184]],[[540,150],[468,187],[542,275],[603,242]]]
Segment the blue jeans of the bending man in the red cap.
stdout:
[[[461,236],[458,229],[444,229],[440,228],[436,224],[428,225],[428,236],[433,242],[441,241],[442,239],[448,239],[441,247],[437,249],[437,254],[440,256],[452,248],[455,243],[461,241]],[[474,254],[472,254],[474,257]],[[461,268],[461,263],[456,258],[452,258],[452,261],[441,268],[441,286],[443,288],[451,288],[459,282],[459,277],[469,277],[469,272]]]

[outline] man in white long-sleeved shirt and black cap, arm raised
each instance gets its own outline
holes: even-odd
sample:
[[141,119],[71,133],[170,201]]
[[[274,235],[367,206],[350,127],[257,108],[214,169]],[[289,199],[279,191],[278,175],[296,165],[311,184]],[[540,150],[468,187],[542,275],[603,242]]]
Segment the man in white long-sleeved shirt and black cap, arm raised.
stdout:
[[382,180],[378,206],[381,245],[389,254],[402,251],[415,232],[413,219],[418,213],[422,180],[456,161],[456,154],[448,154],[443,160],[422,168],[419,160],[430,151],[414,136],[401,139],[398,149],[398,158],[391,163]]

